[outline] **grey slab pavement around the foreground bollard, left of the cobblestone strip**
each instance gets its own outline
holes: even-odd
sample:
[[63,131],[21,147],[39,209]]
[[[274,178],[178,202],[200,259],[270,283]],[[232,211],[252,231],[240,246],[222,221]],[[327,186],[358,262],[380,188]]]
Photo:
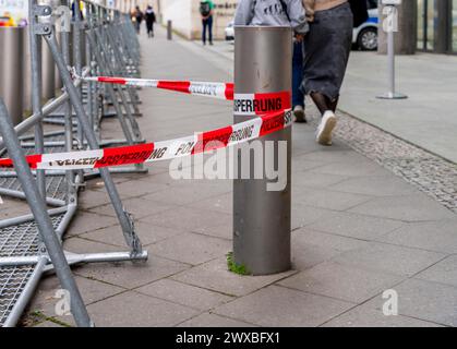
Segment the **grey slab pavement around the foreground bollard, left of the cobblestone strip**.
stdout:
[[[232,80],[224,56],[194,43],[167,41],[160,28],[154,39],[142,36],[141,45],[144,77]],[[226,101],[154,89],[143,89],[141,97],[139,122],[148,141],[232,122]],[[312,107],[308,112],[316,118]],[[119,130],[110,122],[104,134],[116,137]],[[344,134],[322,147],[313,123],[294,124],[292,132],[292,270],[229,273],[231,182],[177,181],[167,163],[156,163],[147,174],[116,176],[149,261],[73,269],[96,325],[457,325],[457,215],[357,153]],[[88,182],[67,250],[125,249],[108,202],[101,181]],[[55,276],[41,281],[25,325],[73,325],[71,316],[55,314],[58,288]],[[382,312],[387,289],[398,292],[398,316]]]

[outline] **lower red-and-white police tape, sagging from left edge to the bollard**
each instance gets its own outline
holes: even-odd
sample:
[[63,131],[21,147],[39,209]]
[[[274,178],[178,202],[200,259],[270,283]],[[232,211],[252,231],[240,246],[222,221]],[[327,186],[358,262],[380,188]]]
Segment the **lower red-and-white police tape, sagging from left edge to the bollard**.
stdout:
[[[26,160],[31,168],[51,170],[89,169],[169,160],[252,141],[289,127],[291,120],[291,110],[287,109],[182,139],[95,151],[29,155],[26,156]],[[13,163],[9,158],[3,158],[0,159],[0,167],[13,167]]]

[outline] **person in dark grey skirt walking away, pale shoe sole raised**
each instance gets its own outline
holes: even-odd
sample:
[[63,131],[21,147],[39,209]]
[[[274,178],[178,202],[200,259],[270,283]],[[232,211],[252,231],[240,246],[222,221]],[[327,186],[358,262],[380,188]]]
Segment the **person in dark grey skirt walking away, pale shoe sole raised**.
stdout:
[[[361,1],[359,1],[361,2]],[[310,32],[303,40],[302,91],[321,112],[316,142],[332,145],[339,91],[352,46],[353,16],[348,0],[303,0],[311,9]]]

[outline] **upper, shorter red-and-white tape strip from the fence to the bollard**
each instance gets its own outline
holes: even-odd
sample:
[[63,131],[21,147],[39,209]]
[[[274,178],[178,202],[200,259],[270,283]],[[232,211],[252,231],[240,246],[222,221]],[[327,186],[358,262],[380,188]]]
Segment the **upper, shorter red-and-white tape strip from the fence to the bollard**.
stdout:
[[92,81],[105,84],[118,84],[137,87],[155,87],[169,89],[184,94],[212,97],[217,99],[233,100],[232,83],[208,83],[193,81],[169,81],[169,80],[149,80],[116,76],[86,76],[84,81]]

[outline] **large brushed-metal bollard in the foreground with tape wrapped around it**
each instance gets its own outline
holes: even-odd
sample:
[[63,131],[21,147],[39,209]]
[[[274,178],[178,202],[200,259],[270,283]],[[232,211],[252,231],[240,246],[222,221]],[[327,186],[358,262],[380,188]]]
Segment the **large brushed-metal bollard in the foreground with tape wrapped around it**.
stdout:
[[[237,26],[234,41],[234,93],[276,93],[290,91],[292,33],[289,27]],[[245,116],[234,113],[234,122]],[[233,257],[253,275],[281,273],[291,267],[290,253],[290,170],[291,129],[254,142],[275,142],[274,164],[278,161],[278,141],[287,141],[287,184],[281,191],[267,191],[266,178],[233,181]],[[264,157],[265,164],[265,154]],[[257,159],[256,159],[257,160]],[[241,157],[238,154],[238,169]],[[264,171],[265,173],[265,171]],[[236,177],[239,178],[239,177]]]

